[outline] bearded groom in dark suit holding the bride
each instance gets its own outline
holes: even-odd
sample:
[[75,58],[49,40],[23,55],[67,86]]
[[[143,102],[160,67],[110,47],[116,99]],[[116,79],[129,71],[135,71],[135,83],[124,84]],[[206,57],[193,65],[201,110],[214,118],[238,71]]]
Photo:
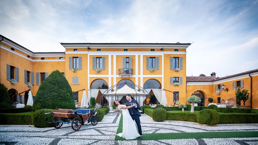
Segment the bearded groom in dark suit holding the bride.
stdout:
[[126,95],[126,100],[128,101],[126,103],[126,106],[131,106],[133,104],[137,104],[136,107],[132,107],[132,108],[129,108],[128,111],[132,117],[133,120],[135,120],[136,122],[136,125],[138,127],[138,131],[139,131],[139,134],[140,134],[140,137],[139,138],[142,138],[142,127],[141,127],[141,124],[140,124],[140,112],[138,109],[141,109],[139,103],[136,101],[136,100],[132,100],[132,96],[130,94]]

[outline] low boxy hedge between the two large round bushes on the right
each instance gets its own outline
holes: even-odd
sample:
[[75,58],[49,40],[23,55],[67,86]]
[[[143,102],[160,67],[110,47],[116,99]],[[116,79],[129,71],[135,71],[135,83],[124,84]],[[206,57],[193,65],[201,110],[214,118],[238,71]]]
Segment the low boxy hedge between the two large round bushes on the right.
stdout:
[[178,120],[196,122],[197,112],[191,113],[190,111],[167,111],[166,120]]

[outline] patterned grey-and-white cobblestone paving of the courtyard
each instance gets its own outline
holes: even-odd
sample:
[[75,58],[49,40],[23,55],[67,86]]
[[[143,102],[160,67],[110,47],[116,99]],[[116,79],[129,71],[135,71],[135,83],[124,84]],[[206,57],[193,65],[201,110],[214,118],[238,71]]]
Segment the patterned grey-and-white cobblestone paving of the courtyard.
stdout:
[[[180,132],[221,132],[221,131],[258,131],[258,126],[216,126],[206,127],[195,124],[175,122],[154,122],[146,115],[140,117],[142,133],[180,133]],[[104,117],[96,126],[82,126],[74,131],[71,125],[64,124],[61,128],[33,127],[0,127],[0,144],[93,144],[93,145],[167,145],[167,144],[258,144],[258,138],[202,138],[175,140],[134,140],[115,141],[120,114]]]

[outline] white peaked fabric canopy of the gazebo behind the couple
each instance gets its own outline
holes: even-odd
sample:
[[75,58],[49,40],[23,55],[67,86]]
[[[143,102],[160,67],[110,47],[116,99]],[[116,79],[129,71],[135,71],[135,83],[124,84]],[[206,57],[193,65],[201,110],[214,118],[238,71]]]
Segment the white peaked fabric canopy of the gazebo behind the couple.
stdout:
[[135,89],[132,89],[128,87],[128,85],[124,85],[121,89],[118,89],[117,91],[110,92],[110,93],[105,93],[103,95],[105,96],[125,96],[127,94],[130,94],[132,96],[148,96],[149,94],[138,92]]

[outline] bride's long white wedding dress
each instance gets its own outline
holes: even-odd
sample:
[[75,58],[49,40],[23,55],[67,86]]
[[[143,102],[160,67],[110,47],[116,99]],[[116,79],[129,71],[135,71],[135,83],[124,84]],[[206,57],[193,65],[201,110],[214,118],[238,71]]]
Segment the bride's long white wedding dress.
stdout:
[[121,109],[122,106],[126,107],[126,105],[118,106],[118,109],[122,110],[122,114],[123,114],[123,132],[119,133],[117,135],[122,138],[125,138],[127,140],[138,138],[140,136],[140,134],[138,134],[136,125],[135,125],[128,109]]

